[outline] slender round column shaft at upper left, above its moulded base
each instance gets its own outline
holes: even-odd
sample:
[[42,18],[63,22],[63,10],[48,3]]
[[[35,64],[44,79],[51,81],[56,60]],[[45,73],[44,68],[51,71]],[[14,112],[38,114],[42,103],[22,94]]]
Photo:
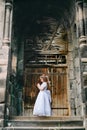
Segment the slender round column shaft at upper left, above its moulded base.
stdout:
[[5,22],[4,22],[4,37],[3,43],[10,43],[11,42],[11,15],[12,15],[12,3],[6,2],[5,4]]

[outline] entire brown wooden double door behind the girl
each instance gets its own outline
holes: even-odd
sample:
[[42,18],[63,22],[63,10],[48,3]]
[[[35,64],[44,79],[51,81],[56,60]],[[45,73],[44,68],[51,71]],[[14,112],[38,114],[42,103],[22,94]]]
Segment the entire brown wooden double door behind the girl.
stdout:
[[28,68],[25,70],[24,115],[32,116],[33,106],[39,92],[36,83],[43,73],[47,74],[50,80],[52,116],[68,116],[67,73],[64,67]]

